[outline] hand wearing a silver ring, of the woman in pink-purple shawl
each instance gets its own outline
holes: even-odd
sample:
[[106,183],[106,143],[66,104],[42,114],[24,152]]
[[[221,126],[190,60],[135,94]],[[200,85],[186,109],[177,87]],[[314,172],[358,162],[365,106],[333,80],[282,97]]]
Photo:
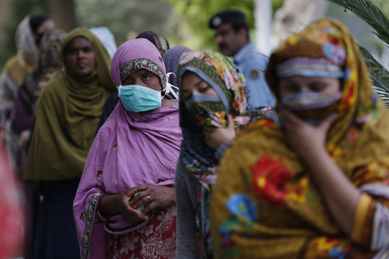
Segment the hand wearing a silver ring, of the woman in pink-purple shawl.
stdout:
[[[137,209],[149,203],[149,205],[142,211],[144,214],[149,213],[156,207],[167,207],[175,203],[175,191],[172,187],[144,184],[129,189],[127,194],[134,195],[139,191],[141,193],[132,198],[129,204],[134,209]],[[150,197],[150,200],[147,196]]]

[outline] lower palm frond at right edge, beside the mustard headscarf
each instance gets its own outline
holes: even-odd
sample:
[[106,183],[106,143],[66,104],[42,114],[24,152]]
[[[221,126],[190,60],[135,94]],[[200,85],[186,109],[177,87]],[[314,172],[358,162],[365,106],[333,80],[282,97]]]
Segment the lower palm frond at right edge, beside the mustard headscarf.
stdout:
[[373,84],[373,89],[384,100],[385,104],[389,104],[389,72],[370,53],[359,46],[362,56],[366,63],[366,68]]

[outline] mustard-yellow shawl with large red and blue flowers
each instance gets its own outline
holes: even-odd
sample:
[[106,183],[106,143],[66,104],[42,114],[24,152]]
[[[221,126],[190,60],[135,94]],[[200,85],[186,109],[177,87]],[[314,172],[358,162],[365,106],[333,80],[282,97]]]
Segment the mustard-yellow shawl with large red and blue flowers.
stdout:
[[216,258],[387,258],[389,111],[371,89],[349,30],[332,19],[310,24],[272,54],[266,77],[277,96],[277,64],[293,57],[332,60],[340,49],[347,55],[345,78],[326,148],[363,191],[352,234],[338,227],[282,129],[261,119],[242,130],[220,164],[210,205]]

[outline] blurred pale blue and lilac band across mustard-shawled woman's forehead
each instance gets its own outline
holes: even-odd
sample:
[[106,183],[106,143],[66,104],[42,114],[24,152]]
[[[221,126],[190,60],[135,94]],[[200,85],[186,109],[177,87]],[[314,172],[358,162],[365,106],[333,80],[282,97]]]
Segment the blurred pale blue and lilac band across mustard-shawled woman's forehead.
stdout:
[[294,57],[275,67],[278,77],[301,75],[305,77],[343,78],[345,73],[339,66],[328,59],[312,59],[309,57]]

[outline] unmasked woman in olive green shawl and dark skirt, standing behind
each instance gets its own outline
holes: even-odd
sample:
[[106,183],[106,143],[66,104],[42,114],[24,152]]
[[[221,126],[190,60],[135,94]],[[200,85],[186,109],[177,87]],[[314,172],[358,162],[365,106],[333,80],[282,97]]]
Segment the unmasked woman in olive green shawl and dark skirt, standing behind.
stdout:
[[103,105],[116,90],[109,54],[89,30],[68,33],[61,51],[65,69],[37,101],[24,173],[24,181],[44,195],[34,258],[80,257],[72,203]]

